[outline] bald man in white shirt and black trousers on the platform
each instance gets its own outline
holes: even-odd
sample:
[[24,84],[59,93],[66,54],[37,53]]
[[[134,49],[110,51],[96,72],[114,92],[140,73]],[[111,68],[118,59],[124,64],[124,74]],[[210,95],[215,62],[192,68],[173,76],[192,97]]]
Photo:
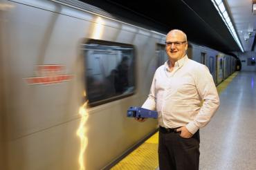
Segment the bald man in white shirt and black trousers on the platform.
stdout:
[[219,96],[208,68],[188,59],[184,32],[171,30],[165,43],[169,59],[156,70],[142,107],[158,111],[159,168],[199,169],[199,129],[217,111]]

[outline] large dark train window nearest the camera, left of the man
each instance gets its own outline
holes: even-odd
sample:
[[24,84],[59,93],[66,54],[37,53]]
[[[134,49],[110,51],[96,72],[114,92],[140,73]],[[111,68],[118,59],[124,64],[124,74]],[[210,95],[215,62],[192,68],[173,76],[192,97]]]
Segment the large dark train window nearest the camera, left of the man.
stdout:
[[134,93],[134,46],[90,39],[83,44],[87,99],[97,106]]

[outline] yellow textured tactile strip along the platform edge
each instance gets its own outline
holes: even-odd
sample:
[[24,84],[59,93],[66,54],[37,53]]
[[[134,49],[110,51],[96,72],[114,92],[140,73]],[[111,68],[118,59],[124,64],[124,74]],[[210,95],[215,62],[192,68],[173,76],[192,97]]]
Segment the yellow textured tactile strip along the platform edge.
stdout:
[[[221,93],[232,82],[232,79],[237,76],[238,72],[233,73],[217,86],[218,93]],[[111,170],[154,170],[158,167],[158,132],[146,140],[137,149],[127,155]]]

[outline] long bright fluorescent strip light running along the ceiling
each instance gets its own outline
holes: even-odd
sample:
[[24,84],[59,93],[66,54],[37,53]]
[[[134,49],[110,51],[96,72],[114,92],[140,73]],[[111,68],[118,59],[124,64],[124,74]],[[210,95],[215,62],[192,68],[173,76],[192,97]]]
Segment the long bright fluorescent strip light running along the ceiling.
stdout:
[[[237,37],[237,32],[235,32],[235,28],[232,25],[232,21],[230,20],[230,17],[228,16],[228,12],[226,11],[223,0],[211,0],[211,1],[213,3],[214,7],[219,12],[219,15],[221,16],[222,20],[224,21],[224,23],[228,27],[228,30],[230,31],[232,37],[237,42],[237,45],[239,46],[241,52],[244,53],[244,48],[243,48],[243,46],[241,46],[241,42],[239,41],[239,38]],[[256,6],[254,6],[254,5],[256,5],[256,3],[253,4],[253,9],[255,8],[255,14],[256,14]]]

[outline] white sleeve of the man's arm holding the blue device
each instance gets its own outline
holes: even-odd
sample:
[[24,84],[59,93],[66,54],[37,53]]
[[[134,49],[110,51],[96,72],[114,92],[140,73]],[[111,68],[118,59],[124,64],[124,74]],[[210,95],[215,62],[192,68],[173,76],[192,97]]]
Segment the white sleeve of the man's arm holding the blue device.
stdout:
[[149,91],[149,95],[147,97],[147,100],[144,102],[142,108],[146,108],[152,111],[156,110],[156,73],[154,75],[152,85]]

